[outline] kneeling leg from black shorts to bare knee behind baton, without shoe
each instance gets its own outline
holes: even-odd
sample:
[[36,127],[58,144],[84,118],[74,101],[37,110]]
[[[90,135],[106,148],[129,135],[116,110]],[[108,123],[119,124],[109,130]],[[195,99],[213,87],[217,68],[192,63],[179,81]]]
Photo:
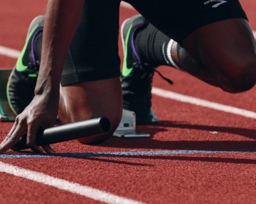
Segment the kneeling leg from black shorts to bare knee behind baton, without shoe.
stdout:
[[84,138],[83,143],[109,139],[120,123],[122,95],[118,56],[119,4],[86,1],[70,45],[61,78],[58,116],[64,123],[106,116],[108,135]]

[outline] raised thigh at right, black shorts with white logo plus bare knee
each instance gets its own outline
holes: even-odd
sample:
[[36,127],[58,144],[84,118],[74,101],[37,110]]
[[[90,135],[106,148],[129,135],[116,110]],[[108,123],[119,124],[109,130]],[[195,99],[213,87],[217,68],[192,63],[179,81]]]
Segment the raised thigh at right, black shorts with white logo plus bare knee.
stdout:
[[157,29],[177,41],[216,86],[229,92],[254,86],[256,45],[238,0],[128,1]]

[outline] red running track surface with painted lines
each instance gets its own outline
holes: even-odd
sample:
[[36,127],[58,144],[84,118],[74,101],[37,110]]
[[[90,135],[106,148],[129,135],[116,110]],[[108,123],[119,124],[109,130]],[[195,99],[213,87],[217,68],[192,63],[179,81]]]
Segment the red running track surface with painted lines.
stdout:
[[[44,14],[47,1],[0,3],[0,46],[21,50],[30,21]],[[242,5],[256,31],[256,2],[243,0]],[[120,22],[136,13],[121,7]],[[16,59],[1,54],[0,62],[0,68],[11,68]],[[180,93],[180,98],[193,96],[256,113],[255,88],[228,94],[172,68],[159,71],[175,84],[156,75],[153,85],[172,91],[172,97]],[[1,203],[256,203],[254,115],[184,103],[154,91],[160,123],[138,126],[151,138],[113,137],[96,146],[64,142],[52,145],[60,153],[55,157],[31,151],[1,155]],[[0,123],[1,140],[12,124]]]

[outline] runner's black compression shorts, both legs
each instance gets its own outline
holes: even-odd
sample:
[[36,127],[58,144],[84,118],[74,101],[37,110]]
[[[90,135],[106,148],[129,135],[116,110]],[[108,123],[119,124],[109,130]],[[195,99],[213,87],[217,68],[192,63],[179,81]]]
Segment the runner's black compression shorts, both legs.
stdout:
[[[245,18],[238,0],[126,0],[157,29],[182,45],[204,25]],[[120,0],[86,0],[71,43],[61,85],[120,76],[118,56]]]

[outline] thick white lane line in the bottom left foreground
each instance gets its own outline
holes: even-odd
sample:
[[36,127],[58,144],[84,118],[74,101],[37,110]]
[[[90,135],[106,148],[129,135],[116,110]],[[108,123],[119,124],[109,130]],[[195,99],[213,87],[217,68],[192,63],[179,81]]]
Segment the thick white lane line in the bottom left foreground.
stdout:
[[77,183],[69,182],[63,179],[58,179],[56,177],[52,177],[46,175],[44,173],[38,173],[36,171],[30,171],[24,168],[20,168],[17,166],[13,166],[10,164],[6,164],[0,162],[0,172],[5,172],[8,174],[12,174],[15,176],[23,177],[28,180],[32,180],[41,184],[45,184],[48,186],[53,186],[55,188],[66,190],[71,193],[76,193],[79,195],[83,195],[94,200],[99,200],[106,203],[113,204],[142,204],[142,202],[138,202],[136,200],[132,200],[125,197],[120,197],[117,195],[113,195],[111,193],[100,191],[98,189],[94,189],[88,186],[82,186]]

